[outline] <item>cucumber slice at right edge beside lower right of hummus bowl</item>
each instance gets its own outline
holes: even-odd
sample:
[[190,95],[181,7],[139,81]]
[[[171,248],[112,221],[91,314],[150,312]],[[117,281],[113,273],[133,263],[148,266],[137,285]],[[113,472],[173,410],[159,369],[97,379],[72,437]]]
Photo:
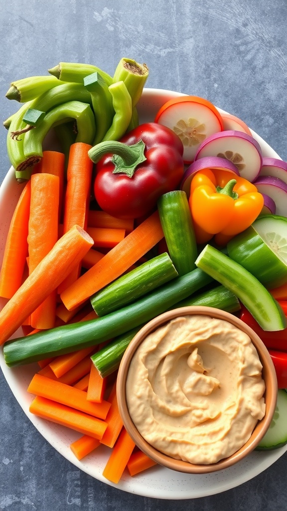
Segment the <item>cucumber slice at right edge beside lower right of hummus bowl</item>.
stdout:
[[256,451],[270,451],[287,444],[287,392],[279,389],[277,404],[269,429],[256,447]]

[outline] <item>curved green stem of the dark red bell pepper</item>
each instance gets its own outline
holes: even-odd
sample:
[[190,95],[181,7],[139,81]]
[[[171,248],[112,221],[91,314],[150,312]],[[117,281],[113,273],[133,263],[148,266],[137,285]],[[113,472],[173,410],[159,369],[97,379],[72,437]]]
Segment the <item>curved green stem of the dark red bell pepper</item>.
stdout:
[[132,177],[136,167],[147,159],[145,148],[146,145],[142,140],[132,146],[109,140],[92,147],[88,155],[94,163],[98,163],[105,154],[112,154],[112,162],[115,166],[113,174],[126,174]]

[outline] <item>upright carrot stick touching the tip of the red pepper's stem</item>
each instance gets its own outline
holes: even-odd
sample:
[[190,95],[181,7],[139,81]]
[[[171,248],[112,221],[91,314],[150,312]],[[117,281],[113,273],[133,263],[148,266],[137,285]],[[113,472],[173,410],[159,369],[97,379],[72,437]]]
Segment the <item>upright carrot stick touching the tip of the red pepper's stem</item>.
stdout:
[[[86,230],[90,203],[90,189],[93,162],[88,156],[89,144],[76,142],[69,151],[67,168],[67,185],[64,199],[63,233],[73,225]],[[59,287],[61,293],[80,275],[81,264],[78,264],[65,278]]]

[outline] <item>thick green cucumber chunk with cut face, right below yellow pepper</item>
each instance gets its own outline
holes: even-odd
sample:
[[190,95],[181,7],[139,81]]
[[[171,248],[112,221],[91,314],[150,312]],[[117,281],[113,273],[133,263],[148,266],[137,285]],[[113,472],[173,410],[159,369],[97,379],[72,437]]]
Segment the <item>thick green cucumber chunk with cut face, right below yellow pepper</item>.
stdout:
[[227,244],[233,261],[250,271],[268,289],[287,282],[287,218],[259,217]]

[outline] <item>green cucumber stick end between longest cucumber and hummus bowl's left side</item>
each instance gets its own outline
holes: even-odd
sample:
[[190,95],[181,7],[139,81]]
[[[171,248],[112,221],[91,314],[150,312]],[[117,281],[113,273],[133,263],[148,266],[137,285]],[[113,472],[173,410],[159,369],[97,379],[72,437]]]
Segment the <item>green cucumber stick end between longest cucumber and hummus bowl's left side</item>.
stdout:
[[102,378],[111,375],[118,369],[129,343],[142,326],[141,324],[139,327],[116,337],[116,339],[104,346],[102,350],[91,356],[92,363],[97,367]]

